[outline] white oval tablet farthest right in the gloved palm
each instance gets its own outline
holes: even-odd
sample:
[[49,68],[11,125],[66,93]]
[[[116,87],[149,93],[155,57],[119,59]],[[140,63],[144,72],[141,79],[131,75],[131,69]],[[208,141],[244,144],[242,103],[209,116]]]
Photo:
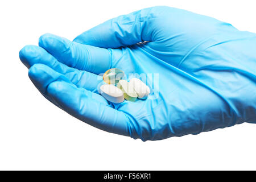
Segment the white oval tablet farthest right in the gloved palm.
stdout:
[[138,78],[131,78],[129,82],[131,85],[133,85],[133,88],[137,93],[138,98],[146,99],[147,96],[150,94],[150,88]]

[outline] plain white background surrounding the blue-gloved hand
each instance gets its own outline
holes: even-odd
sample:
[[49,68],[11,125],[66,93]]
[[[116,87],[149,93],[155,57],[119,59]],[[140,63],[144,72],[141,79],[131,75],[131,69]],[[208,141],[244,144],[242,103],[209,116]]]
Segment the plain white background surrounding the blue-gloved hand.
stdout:
[[0,169],[256,169],[256,125],[155,142],[89,126],[36,90],[19,50],[50,32],[73,40],[110,18],[167,5],[256,32],[255,1],[0,1]]

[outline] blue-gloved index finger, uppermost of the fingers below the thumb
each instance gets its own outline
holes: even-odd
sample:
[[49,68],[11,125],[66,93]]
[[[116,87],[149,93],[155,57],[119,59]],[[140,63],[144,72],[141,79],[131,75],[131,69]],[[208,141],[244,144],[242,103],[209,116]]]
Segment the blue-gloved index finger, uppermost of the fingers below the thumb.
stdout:
[[105,48],[83,45],[52,34],[44,34],[39,46],[58,61],[72,68],[100,74],[111,67],[111,52]]

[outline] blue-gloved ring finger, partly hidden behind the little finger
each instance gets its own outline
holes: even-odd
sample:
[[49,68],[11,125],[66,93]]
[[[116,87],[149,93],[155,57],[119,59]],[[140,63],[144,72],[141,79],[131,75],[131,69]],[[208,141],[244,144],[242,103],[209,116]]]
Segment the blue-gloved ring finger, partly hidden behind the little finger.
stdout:
[[[47,93],[47,88],[49,84],[55,81],[61,81],[61,82],[67,82],[68,84],[73,85],[67,77],[54,71],[52,68],[44,64],[32,65],[32,67],[28,70],[28,76],[30,77],[30,80],[33,82],[36,88],[39,90],[39,92],[42,93],[43,96],[45,96],[51,102],[53,101],[51,100],[51,98],[49,98]],[[90,97],[96,100],[97,102],[104,105],[109,105],[108,101],[106,101],[105,98],[103,98],[99,94],[90,92],[89,90],[86,90],[84,88],[80,88],[80,89],[88,96],[90,95]],[[55,104],[55,102],[53,103]]]

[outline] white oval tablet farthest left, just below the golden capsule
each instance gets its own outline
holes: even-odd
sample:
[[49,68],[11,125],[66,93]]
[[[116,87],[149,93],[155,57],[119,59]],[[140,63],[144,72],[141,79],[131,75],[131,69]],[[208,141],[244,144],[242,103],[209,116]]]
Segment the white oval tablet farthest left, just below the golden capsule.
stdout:
[[116,104],[121,103],[125,100],[122,90],[110,84],[101,85],[100,94],[101,96],[106,98],[106,100]]

